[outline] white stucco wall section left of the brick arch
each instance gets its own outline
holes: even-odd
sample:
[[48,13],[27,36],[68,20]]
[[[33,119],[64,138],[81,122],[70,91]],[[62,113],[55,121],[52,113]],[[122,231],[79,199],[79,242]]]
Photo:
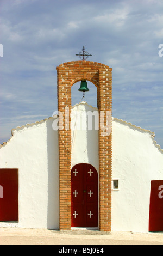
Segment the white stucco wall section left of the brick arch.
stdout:
[[18,222],[0,227],[59,228],[58,131],[54,118],[12,130],[0,149],[0,168],[18,168]]

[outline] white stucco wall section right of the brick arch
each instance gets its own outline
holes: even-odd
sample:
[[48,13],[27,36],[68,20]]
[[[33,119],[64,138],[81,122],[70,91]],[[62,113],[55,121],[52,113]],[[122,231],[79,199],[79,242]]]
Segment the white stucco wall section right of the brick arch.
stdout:
[[154,133],[112,121],[112,230],[148,232],[151,180],[163,179],[163,150]]

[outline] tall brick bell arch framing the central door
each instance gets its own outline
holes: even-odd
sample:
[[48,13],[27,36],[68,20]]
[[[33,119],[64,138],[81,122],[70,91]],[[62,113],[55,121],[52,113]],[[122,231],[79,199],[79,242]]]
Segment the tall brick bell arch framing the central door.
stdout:
[[[71,229],[71,127],[61,128],[66,119],[71,122],[71,87],[74,83],[87,80],[97,88],[98,111],[111,113],[112,69],[97,62],[74,61],[57,68],[59,114],[59,228]],[[68,114],[65,112],[68,107]],[[101,120],[100,120],[101,121]],[[102,121],[101,121],[102,123]],[[104,121],[104,125],[106,122]],[[103,136],[99,125],[99,230],[111,231],[111,169],[112,131]]]

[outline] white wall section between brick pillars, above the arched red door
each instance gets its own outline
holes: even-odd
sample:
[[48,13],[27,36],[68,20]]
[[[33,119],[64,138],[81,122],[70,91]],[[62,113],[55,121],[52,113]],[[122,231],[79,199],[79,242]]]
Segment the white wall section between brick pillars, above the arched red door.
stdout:
[[98,130],[95,125],[89,130],[89,121],[95,120],[97,113],[97,108],[87,105],[86,102],[72,108],[72,167],[78,163],[89,163],[99,171]]

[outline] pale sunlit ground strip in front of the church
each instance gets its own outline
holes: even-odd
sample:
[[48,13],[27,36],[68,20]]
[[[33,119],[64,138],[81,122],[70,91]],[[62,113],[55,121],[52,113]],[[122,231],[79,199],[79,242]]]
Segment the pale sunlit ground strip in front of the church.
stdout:
[[0,228],[0,245],[163,245],[163,232]]

